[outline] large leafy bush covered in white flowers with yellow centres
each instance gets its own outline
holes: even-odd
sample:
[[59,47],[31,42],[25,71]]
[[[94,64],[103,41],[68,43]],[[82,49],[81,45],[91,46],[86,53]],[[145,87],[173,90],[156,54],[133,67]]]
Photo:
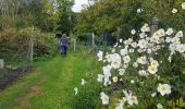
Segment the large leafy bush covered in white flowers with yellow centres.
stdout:
[[[173,13],[176,12],[174,9]],[[98,74],[97,81],[102,83],[100,99],[106,107],[161,109],[183,96],[183,32],[170,27],[150,34],[149,25],[145,24],[140,31],[132,31],[139,39],[120,39],[110,52],[98,52],[103,73]]]

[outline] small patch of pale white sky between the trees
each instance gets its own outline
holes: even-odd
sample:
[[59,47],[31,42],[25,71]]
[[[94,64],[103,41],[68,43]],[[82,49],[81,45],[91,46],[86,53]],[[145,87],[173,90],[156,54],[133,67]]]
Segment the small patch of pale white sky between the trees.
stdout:
[[75,0],[75,4],[73,5],[72,10],[74,12],[81,12],[81,10],[83,9],[82,4],[87,4],[87,0]]

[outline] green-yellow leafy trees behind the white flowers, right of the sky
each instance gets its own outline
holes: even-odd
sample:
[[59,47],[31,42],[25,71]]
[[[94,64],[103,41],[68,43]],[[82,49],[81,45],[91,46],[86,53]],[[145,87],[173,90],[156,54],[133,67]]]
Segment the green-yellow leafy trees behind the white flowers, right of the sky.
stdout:
[[[177,28],[184,29],[184,13],[177,13],[176,16],[170,13],[182,2],[183,0],[98,0],[77,15],[74,32],[76,36],[83,37],[91,32],[101,35],[116,34],[120,31],[120,35],[126,38],[133,28],[139,29],[144,23],[151,25],[155,16],[159,19],[159,26],[178,26]],[[172,21],[177,24],[174,25]]]

